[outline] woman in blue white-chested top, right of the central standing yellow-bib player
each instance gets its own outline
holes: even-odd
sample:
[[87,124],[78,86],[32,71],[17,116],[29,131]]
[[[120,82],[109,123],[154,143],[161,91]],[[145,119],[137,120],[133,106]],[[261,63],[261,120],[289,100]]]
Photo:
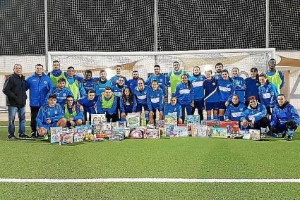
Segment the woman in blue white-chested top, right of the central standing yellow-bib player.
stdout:
[[184,123],[186,113],[188,115],[192,114],[192,107],[194,107],[195,101],[193,87],[191,85],[191,82],[188,80],[187,75],[181,76],[181,83],[176,86],[175,96],[177,97],[178,102],[181,105],[181,119],[182,123]]

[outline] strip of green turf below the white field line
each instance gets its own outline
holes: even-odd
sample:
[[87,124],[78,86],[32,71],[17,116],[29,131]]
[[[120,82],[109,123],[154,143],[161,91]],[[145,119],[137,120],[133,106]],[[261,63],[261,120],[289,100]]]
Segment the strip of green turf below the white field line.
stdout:
[[[0,184],[1,199],[299,199],[296,184]],[[22,198],[20,198],[22,196]]]

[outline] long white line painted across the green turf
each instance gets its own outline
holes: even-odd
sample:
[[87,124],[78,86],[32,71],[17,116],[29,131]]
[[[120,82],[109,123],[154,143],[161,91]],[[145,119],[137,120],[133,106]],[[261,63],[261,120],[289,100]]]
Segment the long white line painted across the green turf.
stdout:
[[42,182],[42,183],[92,183],[92,182],[294,182],[300,183],[300,179],[188,179],[188,178],[92,178],[92,179],[18,179],[0,178],[0,182]]

